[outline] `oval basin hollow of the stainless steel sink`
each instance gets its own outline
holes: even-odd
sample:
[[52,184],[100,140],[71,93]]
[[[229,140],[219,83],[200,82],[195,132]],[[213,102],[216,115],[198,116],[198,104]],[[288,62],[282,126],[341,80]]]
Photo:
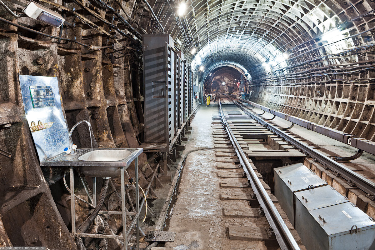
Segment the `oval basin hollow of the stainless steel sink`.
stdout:
[[95,150],[84,153],[78,160],[89,162],[117,162],[123,160],[131,154],[128,150]]

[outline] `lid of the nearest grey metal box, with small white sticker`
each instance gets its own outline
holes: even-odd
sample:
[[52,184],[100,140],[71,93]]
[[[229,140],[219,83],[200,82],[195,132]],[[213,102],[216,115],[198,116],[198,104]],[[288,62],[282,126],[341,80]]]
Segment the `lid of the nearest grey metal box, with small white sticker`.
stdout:
[[318,208],[309,212],[330,237],[347,234],[354,225],[357,226],[358,232],[375,228],[375,222],[351,202]]

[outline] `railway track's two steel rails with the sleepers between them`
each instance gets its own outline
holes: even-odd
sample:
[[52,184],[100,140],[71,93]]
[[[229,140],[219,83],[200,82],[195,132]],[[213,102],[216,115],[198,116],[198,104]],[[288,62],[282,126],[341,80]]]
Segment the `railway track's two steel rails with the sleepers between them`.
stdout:
[[[301,159],[301,157],[312,157],[314,162],[321,163],[325,169],[332,170],[338,176],[340,175],[348,182],[353,183],[353,187],[357,186],[368,194],[369,199],[374,198],[374,183],[346,166],[335,162],[314,147],[303,144],[281,128],[271,124],[263,117],[261,118],[260,115],[244,108],[232,98],[219,96],[219,113],[228,135],[227,139],[233,145],[238,156],[237,160],[243,167],[243,175],[246,175],[254,196],[264,210],[264,215],[281,249],[300,249],[300,247],[276,208],[272,194],[267,192],[264,183],[258,178],[259,170],[254,169],[254,164],[251,164],[252,161],[250,160],[253,157],[254,159],[279,157],[285,163],[289,163],[286,160],[287,156],[296,160]],[[254,148],[257,150],[254,150]]]

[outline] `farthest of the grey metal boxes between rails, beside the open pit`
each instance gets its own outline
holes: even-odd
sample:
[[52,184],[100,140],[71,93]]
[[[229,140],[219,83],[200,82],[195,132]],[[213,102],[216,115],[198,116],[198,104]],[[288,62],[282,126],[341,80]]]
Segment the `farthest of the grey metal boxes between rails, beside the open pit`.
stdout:
[[327,182],[319,178],[302,163],[274,169],[275,196],[289,221],[294,223],[294,192],[312,187],[326,186]]

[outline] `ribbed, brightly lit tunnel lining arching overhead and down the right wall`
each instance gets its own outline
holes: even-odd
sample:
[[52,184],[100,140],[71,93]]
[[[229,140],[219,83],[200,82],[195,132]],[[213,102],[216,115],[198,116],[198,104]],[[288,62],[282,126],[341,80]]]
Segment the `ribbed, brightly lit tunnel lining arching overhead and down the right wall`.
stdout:
[[374,0],[186,4],[185,16],[163,24],[181,40],[196,79],[208,73],[199,64],[240,66],[251,75],[244,92],[252,102],[375,142]]

